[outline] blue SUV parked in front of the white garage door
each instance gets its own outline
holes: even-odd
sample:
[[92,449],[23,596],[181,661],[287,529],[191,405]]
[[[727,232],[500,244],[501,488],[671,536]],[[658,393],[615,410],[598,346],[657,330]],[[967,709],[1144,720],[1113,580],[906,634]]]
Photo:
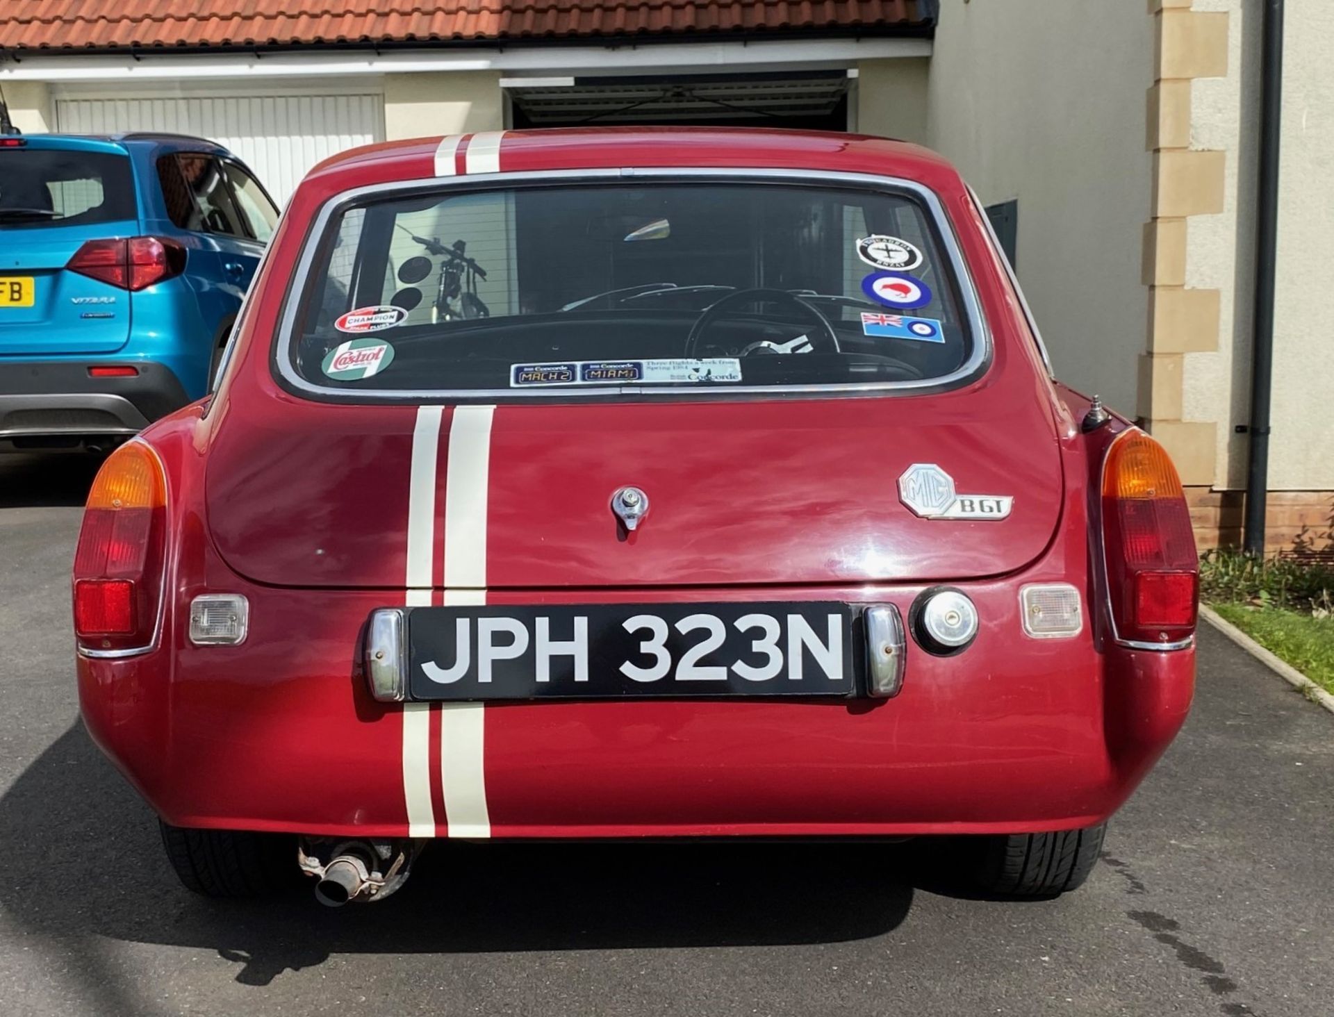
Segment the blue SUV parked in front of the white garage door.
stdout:
[[0,135],[0,447],[107,447],[204,395],[276,222],[209,141]]

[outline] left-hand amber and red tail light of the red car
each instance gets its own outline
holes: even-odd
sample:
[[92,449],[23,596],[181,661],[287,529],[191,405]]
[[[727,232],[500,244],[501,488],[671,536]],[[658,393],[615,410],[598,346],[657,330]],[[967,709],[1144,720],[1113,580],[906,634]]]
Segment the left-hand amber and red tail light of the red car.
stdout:
[[88,492],[75,551],[75,637],[83,650],[145,650],[153,642],[167,526],[167,483],[143,442],[120,446]]

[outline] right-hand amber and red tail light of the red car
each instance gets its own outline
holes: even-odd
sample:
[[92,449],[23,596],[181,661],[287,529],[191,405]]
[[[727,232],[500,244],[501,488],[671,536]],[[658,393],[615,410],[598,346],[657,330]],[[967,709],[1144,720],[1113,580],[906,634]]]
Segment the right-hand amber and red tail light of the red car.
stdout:
[[1107,451],[1103,549],[1117,637],[1174,643],[1195,631],[1199,558],[1190,510],[1167,452],[1139,430]]

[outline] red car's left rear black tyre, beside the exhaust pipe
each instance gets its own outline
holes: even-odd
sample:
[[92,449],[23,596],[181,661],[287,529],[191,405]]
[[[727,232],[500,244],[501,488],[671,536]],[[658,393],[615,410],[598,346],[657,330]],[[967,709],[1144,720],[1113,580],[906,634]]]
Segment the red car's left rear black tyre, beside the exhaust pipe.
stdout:
[[295,837],[159,825],[176,876],[204,897],[268,897],[300,877]]

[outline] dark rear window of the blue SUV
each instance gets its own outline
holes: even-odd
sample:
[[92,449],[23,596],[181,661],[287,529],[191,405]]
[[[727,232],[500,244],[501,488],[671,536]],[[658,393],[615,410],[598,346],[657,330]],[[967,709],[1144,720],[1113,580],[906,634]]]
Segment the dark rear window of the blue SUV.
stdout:
[[92,226],[137,216],[128,156],[0,149],[0,230]]

